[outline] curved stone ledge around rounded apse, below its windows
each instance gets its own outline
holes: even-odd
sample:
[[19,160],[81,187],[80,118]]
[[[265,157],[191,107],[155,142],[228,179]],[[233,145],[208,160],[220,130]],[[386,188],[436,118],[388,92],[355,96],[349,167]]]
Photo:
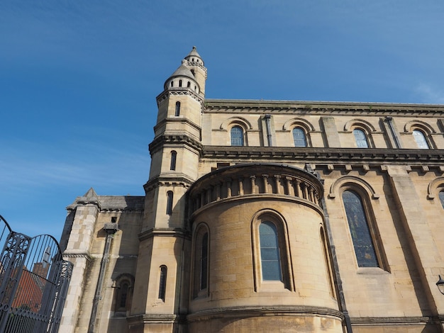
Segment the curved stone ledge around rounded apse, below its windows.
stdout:
[[270,305],[270,306],[239,306],[239,307],[218,307],[210,310],[194,312],[187,316],[189,322],[196,320],[209,320],[218,317],[262,317],[262,316],[325,316],[336,317],[344,320],[344,315],[338,310],[329,307],[316,307],[305,305]]

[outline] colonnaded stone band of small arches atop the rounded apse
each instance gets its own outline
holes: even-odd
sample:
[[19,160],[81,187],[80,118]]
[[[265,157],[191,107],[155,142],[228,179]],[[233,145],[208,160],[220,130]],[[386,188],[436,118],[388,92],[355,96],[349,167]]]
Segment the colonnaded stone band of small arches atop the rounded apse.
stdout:
[[210,203],[251,196],[283,196],[320,206],[323,186],[316,176],[274,163],[245,163],[218,169],[188,191],[189,215]]

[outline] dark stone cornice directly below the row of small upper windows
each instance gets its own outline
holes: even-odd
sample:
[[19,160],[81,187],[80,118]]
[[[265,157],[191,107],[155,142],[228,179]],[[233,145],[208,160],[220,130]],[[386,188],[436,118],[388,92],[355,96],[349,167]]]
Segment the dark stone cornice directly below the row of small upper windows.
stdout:
[[439,164],[442,149],[294,148],[204,146],[203,159],[236,159],[239,162],[282,161],[313,164]]

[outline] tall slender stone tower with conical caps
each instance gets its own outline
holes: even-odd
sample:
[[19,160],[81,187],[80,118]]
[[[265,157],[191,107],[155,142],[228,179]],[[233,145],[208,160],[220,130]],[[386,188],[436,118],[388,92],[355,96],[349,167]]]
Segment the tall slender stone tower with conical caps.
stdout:
[[205,80],[204,61],[193,47],[157,96],[131,329],[142,330],[149,322],[150,332],[171,332],[187,313],[185,193],[198,176]]

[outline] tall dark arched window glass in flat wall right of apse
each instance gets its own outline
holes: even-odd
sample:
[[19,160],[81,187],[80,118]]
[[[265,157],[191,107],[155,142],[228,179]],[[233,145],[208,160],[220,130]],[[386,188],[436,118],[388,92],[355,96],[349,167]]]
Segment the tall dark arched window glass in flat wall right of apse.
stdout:
[[370,227],[361,197],[354,191],[343,192],[343,203],[348,227],[359,267],[379,267]]

